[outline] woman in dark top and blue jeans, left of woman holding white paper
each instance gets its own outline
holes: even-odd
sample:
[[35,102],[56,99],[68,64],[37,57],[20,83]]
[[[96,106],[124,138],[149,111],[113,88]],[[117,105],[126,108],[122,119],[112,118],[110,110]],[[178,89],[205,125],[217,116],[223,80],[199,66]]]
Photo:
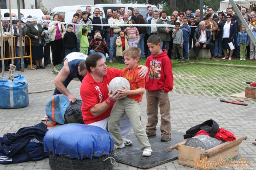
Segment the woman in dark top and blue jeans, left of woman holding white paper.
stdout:
[[218,18],[213,19],[217,24],[218,24],[218,29],[217,32],[215,33],[215,47],[214,47],[214,55],[216,57],[222,57],[222,39],[220,38],[220,28],[222,22],[226,21],[224,18],[224,13],[219,12],[218,13]]

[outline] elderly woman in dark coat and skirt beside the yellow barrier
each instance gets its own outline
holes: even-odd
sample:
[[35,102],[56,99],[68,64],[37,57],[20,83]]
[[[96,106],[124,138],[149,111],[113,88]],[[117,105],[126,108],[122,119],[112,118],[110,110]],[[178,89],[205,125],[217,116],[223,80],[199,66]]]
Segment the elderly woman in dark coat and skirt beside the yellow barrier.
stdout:
[[[33,16],[32,18],[37,19],[36,16]],[[38,24],[37,21],[31,21],[31,24],[27,26],[26,35],[28,35],[31,39],[32,60],[35,61],[37,69],[45,68],[42,64],[44,57],[44,32],[42,26]]]

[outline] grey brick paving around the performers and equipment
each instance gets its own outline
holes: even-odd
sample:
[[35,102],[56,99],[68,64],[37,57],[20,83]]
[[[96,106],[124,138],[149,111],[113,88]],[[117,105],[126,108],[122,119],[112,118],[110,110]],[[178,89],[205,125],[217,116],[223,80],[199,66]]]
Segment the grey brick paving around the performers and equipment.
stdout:
[[[45,90],[54,88],[52,64],[47,69],[25,70],[22,73],[28,80],[29,91]],[[20,72],[15,72],[18,74]],[[174,73],[175,74],[175,73]],[[177,73],[178,74],[178,73]],[[255,76],[254,76],[255,77]],[[79,97],[80,82],[72,81],[69,90]],[[174,90],[176,91],[176,90]],[[0,136],[7,132],[16,132],[26,126],[35,125],[40,122],[40,118],[45,115],[45,103],[52,95],[53,91],[45,93],[30,94],[30,104],[20,109],[0,109]],[[239,157],[243,155],[248,159],[248,163],[256,163],[256,146],[251,142],[256,138],[256,104],[249,103],[248,106],[219,102],[216,98],[206,98],[194,96],[193,94],[169,93],[171,100],[172,130],[185,132],[193,125],[214,119],[220,127],[232,131],[236,136],[247,135],[248,140],[241,143],[239,147]],[[142,123],[146,126],[146,98],[143,96],[141,102]],[[160,122],[160,121],[159,121]],[[153,148],[154,150],[154,148]],[[154,152],[153,152],[154,154]],[[256,168],[256,166],[253,166]],[[0,170],[50,170],[49,159],[37,162],[25,162],[10,165],[0,165]],[[136,170],[133,166],[116,163],[114,169]],[[152,170],[184,170],[192,169],[178,164],[178,160],[163,165],[156,166]]]

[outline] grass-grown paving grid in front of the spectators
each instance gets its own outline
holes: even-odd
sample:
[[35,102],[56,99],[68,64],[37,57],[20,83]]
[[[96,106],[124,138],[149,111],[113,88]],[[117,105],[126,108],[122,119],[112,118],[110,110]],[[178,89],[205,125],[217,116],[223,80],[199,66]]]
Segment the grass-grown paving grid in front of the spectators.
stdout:
[[[244,100],[248,103],[256,104],[256,100],[230,97],[232,94],[244,92],[245,81],[256,81],[254,68],[239,68],[228,66],[212,66],[207,64],[184,64],[194,62],[190,60],[180,62],[173,60],[173,76],[174,88],[172,93],[195,95],[208,98],[226,99],[226,100]],[[145,65],[146,59],[140,59],[139,64]],[[247,65],[256,66],[255,61],[240,61],[240,60],[207,60],[202,59],[197,62],[205,63],[220,63],[220,64],[233,64],[233,65]],[[125,68],[125,65],[119,64],[117,60],[109,63],[108,67],[115,67],[119,69]],[[60,65],[55,66],[59,69]]]

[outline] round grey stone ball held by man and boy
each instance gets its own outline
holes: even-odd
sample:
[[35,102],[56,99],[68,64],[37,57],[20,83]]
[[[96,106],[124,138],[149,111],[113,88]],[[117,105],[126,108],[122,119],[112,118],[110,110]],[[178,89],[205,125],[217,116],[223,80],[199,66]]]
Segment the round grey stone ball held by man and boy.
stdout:
[[109,91],[112,90],[112,93],[113,93],[115,90],[123,90],[124,89],[123,86],[126,87],[128,90],[130,90],[130,83],[126,78],[115,77],[108,84],[108,90]]

